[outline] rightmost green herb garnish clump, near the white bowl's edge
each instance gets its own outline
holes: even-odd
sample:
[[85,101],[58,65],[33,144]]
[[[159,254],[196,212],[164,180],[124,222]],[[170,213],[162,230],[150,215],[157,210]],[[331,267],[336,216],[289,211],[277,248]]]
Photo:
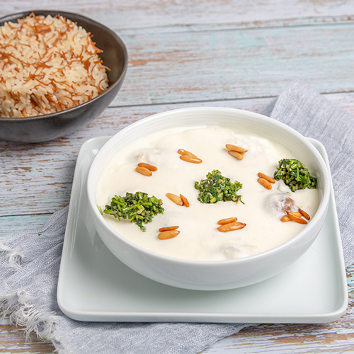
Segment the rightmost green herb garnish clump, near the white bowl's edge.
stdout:
[[292,192],[317,187],[317,178],[310,176],[309,170],[296,159],[280,160],[277,171],[274,172],[274,178],[277,181],[284,181]]

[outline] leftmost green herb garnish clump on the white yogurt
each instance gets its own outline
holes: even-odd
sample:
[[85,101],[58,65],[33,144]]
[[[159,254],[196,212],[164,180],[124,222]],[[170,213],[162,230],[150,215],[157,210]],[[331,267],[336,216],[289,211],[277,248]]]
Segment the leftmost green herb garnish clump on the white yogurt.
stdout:
[[102,211],[115,218],[129,219],[130,222],[137,224],[137,226],[145,231],[143,225],[152,222],[152,218],[157,214],[163,214],[164,208],[161,207],[162,200],[155,196],[149,197],[147,193],[137,192],[126,193],[125,197],[115,195],[110,201],[110,205],[105,205],[105,210]]

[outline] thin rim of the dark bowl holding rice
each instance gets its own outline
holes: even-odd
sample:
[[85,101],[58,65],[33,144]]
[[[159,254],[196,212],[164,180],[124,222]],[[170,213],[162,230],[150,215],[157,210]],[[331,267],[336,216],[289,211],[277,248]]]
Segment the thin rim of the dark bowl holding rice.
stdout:
[[55,118],[64,112],[69,113],[71,111],[85,107],[86,105],[91,105],[92,102],[98,101],[98,99],[100,99],[102,96],[108,95],[110,93],[110,91],[113,91],[116,86],[120,85],[122,80],[125,78],[125,74],[127,73],[129,57],[128,57],[127,47],[125,46],[125,43],[122,41],[122,39],[119,37],[119,35],[117,33],[115,33],[114,30],[111,30],[106,25],[103,25],[103,23],[100,23],[96,20],[93,20],[92,18],[89,18],[88,16],[84,16],[79,13],[61,11],[61,10],[40,10],[40,9],[25,10],[25,11],[20,11],[20,12],[16,12],[16,13],[9,13],[8,15],[2,16],[2,17],[0,17],[0,27],[8,21],[16,21],[18,18],[23,18],[23,17],[29,16],[31,13],[35,13],[35,15],[38,14],[38,15],[43,15],[43,16],[45,16],[45,14],[50,15],[50,16],[61,15],[74,23],[76,23],[76,21],[72,20],[70,18],[70,16],[76,16],[76,18],[80,18],[80,19],[83,19],[84,21],[91,22],[96,27],[103,28],[105,31],[107,31],[111,35],[113,35],[113,38],[115,38],[115,41],[118,42],[120,47],[122,48],[123,57],[124,57],[122,72],[120,73],[120,76],[118,77],[118,79],[115,82],[113,82],[112,85],[108,86],[108,89],[106,89],[105,91],[100,93],[98,96],[91,98],[91,100],[81,103],[80,105],[75,105],[74,107],[67,108],[65,110],[59,110],[59,112],[55,112],[55,113],[49,113],[49,114],[45,114],[45,115],[33,115],[31,117],[12,118],[12,117],[1,117],[0,116],[1,122],[24,122],[24,121],[32,121],[32,120],[41,120],[44,118]]

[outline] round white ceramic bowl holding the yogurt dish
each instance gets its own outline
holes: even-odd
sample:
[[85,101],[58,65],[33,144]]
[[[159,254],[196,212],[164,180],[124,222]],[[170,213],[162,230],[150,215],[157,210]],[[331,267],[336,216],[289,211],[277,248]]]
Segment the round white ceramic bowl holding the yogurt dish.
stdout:
[[[161,256],[132,244],[115,232],[96,206],[96,185],[103,167],[120,149],[135,140],[171,127],[221,125],[276,140],[296,152],[297,159],[318,180],[319,209],[299,234],[284,244],[255,256],[228,261],[186,261]],[[302,135],[276,120],[232,108],[185,108],[152,115],[114,135],[98,152],[89,170],[87,191],[96,231],[122,263],[147,278],[191,290],[226,290],[268,279],[295,262],[312,245],[326,218],[330,195],[330,173],[319,152]]]

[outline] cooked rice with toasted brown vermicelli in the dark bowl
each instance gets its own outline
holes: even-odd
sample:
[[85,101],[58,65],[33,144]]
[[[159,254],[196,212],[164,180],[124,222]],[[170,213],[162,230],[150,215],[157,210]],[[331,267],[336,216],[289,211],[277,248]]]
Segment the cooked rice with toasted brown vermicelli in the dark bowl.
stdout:
[[0,117],[55,113],[108,88],[91,34],[62,16],[30,16],[0,27]]

